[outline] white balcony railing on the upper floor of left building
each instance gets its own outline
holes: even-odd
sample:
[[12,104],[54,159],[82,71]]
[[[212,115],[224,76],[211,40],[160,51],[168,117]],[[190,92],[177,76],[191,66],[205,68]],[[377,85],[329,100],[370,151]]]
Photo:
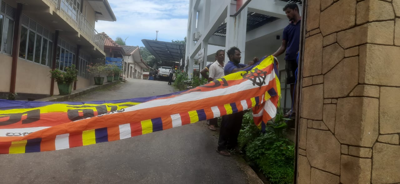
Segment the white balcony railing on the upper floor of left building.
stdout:
[[96,44],[96,46],[100,47],[101,50],[104,50],[104,38],[98,34],[98,32],[94,29],[92,24],[83,16],[78,8],[72,3],[70,0],[52,0],[51,1],[54,6],[62,14],[68,17],[68,19],[78,26],[79,30]]

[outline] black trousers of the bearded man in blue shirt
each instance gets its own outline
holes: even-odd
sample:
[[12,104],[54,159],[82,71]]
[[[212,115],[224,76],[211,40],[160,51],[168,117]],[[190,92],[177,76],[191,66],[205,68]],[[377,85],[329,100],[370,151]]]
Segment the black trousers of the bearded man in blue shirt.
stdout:
[[242,127],[243,111],[222,117],[218,151],[232,149],[238,145],[238,136]]

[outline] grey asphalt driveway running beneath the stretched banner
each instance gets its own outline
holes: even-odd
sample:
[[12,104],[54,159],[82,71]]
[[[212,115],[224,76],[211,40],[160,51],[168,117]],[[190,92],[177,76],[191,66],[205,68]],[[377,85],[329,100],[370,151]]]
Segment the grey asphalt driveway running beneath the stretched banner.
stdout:
[[[164,81],[130,79],[73,101],[116,100],[174,92]],[[0,155],[7,184],[245,184],[234,157],[218,154],[205,122],[65,150]]]

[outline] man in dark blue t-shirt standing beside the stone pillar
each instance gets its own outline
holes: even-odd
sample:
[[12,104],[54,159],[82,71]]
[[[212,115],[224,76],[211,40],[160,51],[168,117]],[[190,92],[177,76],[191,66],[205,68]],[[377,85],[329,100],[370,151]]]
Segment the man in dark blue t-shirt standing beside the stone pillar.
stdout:
[[[294,83],[296,83],[295,72],[297,70],[297,54],[300,45],[300,25],[301,16],[299,8],[296,3],[289,3],[283,8],[286,16],[289,18],[289,25],[285,27],[282,35],[282,45],[279,49],[273,53],[274,57],[278,57],[286,50],[286,84],[290,84],[290,96],[294,103],[296,101],[296,95],[294,94]],[[284,116],[289,117],[294,115],[296,106],[293,105],[293,109],[286,113]]]

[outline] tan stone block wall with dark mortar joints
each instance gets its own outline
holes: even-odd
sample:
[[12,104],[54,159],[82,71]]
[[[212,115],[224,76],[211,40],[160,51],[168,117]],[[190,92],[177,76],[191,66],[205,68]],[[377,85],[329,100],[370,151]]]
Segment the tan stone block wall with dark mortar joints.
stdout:
[[400,0],[307,0],[298,184],[400,183]]

